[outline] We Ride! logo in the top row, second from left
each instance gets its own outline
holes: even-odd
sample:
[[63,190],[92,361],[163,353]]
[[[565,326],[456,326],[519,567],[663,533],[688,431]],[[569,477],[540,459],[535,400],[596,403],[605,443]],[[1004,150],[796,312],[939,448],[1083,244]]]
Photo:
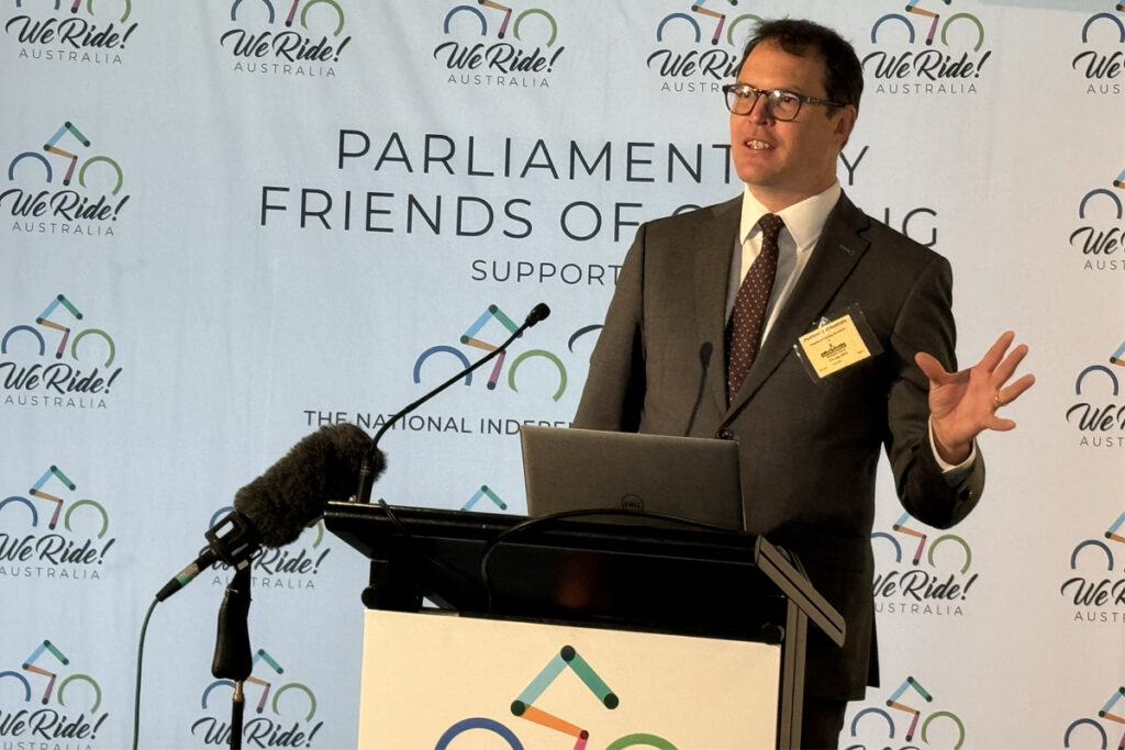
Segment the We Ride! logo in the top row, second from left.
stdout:
[[352,37],[336,0],[233,0],[218,45],[251,75],[335,78]]

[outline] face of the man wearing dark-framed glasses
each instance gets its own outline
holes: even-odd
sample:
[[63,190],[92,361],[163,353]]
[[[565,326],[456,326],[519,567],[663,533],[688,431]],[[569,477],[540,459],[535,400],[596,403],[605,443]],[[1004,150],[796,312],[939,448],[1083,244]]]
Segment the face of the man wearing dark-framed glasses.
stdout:
[[[750,52],[738,82],[827,99],[819,54],[796,57],[771,42]],[[836,157],[855,124],[855,107],[804,103],[792,121],[766,116],[759,99],[749,115],[730,116],[730,153],[738,178],[771,210],[826,190],[836,179]]]

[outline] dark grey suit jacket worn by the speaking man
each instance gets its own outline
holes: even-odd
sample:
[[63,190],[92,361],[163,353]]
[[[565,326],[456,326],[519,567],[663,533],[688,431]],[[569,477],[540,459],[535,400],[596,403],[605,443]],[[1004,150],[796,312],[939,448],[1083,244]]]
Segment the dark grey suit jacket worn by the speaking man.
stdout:
[[[903,507],[947,527],[975,505],[981,458],[957,486],[929,446],[918,351],[952,371],[952,273],[940,255],[845,196],[727,406],[727,281],[741,198],[640,227],[621,269],[574,426],[738,441],[747,531],[800,557],[844,615],[843,649],[809,642],[806,689],[862,697],[878,685],[871,531],[885,446]],[[813,382],[793,351],[822,317],[858,304],[882,353]],[[710,355],[708,351],[710,350]]]

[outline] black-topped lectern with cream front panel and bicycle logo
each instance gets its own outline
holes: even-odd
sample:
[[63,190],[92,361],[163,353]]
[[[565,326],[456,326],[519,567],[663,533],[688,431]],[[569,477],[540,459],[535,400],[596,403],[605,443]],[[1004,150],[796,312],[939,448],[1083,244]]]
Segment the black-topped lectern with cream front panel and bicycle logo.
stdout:
[[[330,503],[324,519],[371,566],[362,595],[369,632],[361,714],[379,713],[388,732],[394,720],[416,726],[434,717],[436,735],[426,742],[435,748],[456,748],[450,742],[468,732],[496,735],[495,747],[539,747],[521,738],[524,728],[574,739],[551,747],[702,744],[702,735],[691,734],[701,730],[669,724],[673,719],[706,728],[765,725],[773,738],[766,744],[799,747],[810,623],[844,642],[839,613],[799,563],[760,536],[630,518],[529,521],[346,501]],[[528,633],[546,633],[543,643],[559,648],[525,647]],[[483,661],[466,667],[471,658]],[[618,658],[624,661],[608,666]],[[523,677],[502,675],[510,659],[522,665]],[[410,680],[423,683],[413,698],[406,697]],[[489,705],[500,713],[472,703],[486,680],[502,684],[497,695],[507,696]],[[396,698],[404,705],[390,708]],[[688,707],[691,701],[699,705]],[[441,713],[442,702],[458,706]],[[655,719],[636,713],[639,704],[655,706]],[[770,715],[755,716],[763,706]],[[618,724],[595,734],[587,725],[603,714]],[[377,737],[364,738],[363,717],[361,743],[377,747]],[[660,731],[629,724],[646,721]],[[395,737],[405,742],[407,735]]]

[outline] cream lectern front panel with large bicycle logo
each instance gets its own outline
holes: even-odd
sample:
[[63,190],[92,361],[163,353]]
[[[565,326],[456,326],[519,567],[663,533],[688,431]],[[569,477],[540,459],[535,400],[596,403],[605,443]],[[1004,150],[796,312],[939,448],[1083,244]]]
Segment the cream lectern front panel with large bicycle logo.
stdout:
[[370,609],[359,747],[771,748],[780,670],[765,643]]

